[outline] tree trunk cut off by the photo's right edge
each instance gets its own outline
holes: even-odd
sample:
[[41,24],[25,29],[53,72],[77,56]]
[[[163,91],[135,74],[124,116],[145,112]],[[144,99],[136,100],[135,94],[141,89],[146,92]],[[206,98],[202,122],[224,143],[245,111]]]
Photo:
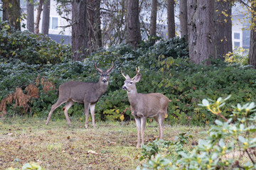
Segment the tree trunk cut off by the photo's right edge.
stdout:
[[[256,4],[254,1],[251,2],[252,11],[256,11]],[[256,14],[252,12],[252,24],[255,24]],[[248,63],[252,65],[252,67],[256,68],[256,28],[251,27],[250,30],[250,50],[248,56]]]

